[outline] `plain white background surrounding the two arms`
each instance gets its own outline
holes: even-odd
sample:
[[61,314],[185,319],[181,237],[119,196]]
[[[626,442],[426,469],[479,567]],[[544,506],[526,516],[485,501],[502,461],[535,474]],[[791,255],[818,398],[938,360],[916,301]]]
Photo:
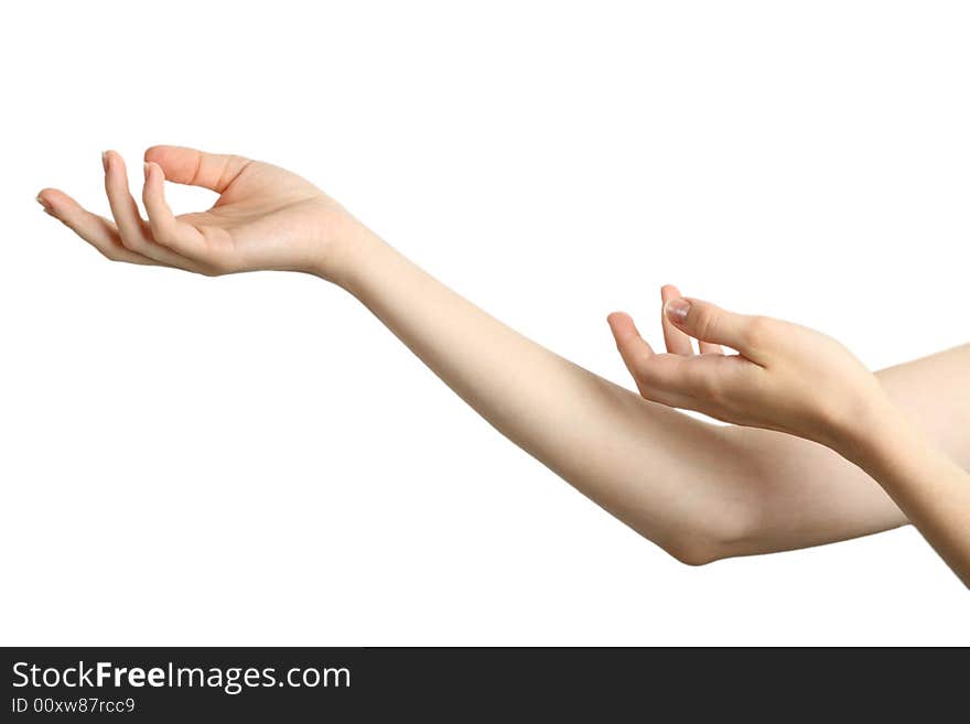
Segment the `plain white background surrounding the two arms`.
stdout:
[[686,568],[341,290],[111,264],[34,202],[236,152],[624,385],[604,317],[657,339],[670,281],[879,368],[968,337],[966,3],[4,14],[3,644],[970,644],[913,529]]

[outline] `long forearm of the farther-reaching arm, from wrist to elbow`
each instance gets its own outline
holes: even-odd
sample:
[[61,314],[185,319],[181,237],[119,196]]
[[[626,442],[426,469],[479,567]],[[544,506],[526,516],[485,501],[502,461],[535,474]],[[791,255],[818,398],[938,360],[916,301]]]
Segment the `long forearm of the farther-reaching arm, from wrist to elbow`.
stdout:
[[718,428],[527,339],[373,235],[355,250],[338,283],[488,422],[584,495],[668,550],[693,523],[736,519],[742,496],[725,480],[740,486],[744,475]]

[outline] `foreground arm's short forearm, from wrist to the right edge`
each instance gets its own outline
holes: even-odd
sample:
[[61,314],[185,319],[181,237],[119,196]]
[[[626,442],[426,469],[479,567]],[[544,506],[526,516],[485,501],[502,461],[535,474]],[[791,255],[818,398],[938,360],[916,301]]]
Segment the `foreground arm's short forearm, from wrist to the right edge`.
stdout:
[[882,485],[970,586],[970,474],[888,401],[843,440],[839,452]]

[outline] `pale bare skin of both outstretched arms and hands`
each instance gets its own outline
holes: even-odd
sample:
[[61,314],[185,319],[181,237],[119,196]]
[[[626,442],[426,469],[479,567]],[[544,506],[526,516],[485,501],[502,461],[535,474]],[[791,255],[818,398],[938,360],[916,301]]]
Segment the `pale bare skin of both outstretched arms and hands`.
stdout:
[[[55,188],[37,201],[116,261],[206,275],[301,271],[342,287],[499,432],[686,563],[845,540],[912,519],[967,581],[970,540],[959,523],[970,520],[970,437],[960,431],[970,424],[970,345],[871,375],[827,337],[784,322],[753,317],[772,344],[748,353],[763,358],[723,355],[716,343],[737,349],[740,338],[709,333],[694,355],[689,333],[698,329],[665,314],[668,354],[654,355],[629,317],[614,314],[637,395],[493,318],[295,174],[179,147],[153,147],[144,161],[148,219],[110,151],[112,219]],[[165,181],[209,188],[218,201],[175,216]],[[679,298],[662,290],[668,304]],[[831,393],[797,393],[817,382]]]

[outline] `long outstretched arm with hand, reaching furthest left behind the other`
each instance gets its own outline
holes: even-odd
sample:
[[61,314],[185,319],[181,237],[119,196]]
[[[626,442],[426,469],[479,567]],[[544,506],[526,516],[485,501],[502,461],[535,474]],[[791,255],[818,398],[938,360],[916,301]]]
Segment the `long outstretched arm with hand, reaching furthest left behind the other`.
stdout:
[[[303,179],[241,156],[155,147],[143,221],[123,161],[106,154],[114,220],[57,190],[45,209],[105,256],[204,274],[289,269],[355,294],[513,442],[635,530],[691,563],[799,548],[903,525],[864,473],[819,445],[683,415],[589,372],[431,278]],[[174,216],[163,177],[220,194]],[[901,404],[923,404],[933,358],[888,370]],[[946,421],[966,400],[937,396]],[[948,425],[940,423],[945,444]],[[967,452],[967,449],[960,449]]]

